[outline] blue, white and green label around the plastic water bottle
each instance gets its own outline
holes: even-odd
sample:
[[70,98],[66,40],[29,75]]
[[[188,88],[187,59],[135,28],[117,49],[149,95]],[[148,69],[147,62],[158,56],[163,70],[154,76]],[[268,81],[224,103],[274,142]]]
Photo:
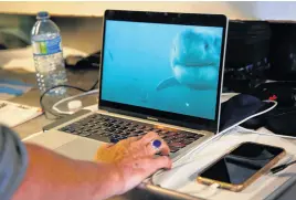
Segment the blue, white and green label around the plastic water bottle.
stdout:
[[33,41],[32,46],[34,55],[50,55],[62,52],[62,40],[56,36],[52,40]]

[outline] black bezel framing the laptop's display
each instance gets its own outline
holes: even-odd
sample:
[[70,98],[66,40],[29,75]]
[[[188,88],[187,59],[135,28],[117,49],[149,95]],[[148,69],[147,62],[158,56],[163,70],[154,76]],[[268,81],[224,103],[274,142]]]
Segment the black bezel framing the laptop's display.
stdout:
[[[223,28],[221,60],[219,67],[218,93],[214,119],[207,119],[201,117],[193,117],[170,112],[162,112],[152,108],[145,108],[121,103],[115,103],[102,99],[102,83],[104,72],[104,45],[106,20],[128,21],[128,22],[149,22],[149,23],[165,23],[165,24],[182,24],[182,25],[199,25],[199,27],[220,27]],[[102,56],[99,69],[99,95],[98,108],[117,114],[139,117],[144,119],[157,120],[159,123],[182,126],[186,128],[193,128],[199,130],[207,130],[216,134],[219,131],[220,120],[220,96],[223,81],[223,69],[226,46],[228,18],[222,14],[193,14],[193,13],[173,13],[173,12],[145,12],[145,11],[123,11],[123,10],[106,10],[104,14],[104,29],[102,42]]]

